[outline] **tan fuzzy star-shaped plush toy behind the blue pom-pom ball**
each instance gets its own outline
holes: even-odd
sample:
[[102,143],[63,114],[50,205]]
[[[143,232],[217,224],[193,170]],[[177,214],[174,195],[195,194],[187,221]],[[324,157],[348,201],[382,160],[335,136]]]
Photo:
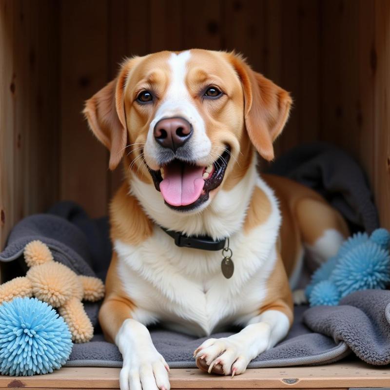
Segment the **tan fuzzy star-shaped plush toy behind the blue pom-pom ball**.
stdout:
[[18,296],[35,296],[58,308],[69,326],[74,342],[91,340],[94,328],[81,300],[94,302],[103,298],[102,281],[92,276],[77,275],[70,268],[54,261],[47,245],[38,240],[26,245],[24,259],[30,269],[26,276],[0,285],[0,304]]

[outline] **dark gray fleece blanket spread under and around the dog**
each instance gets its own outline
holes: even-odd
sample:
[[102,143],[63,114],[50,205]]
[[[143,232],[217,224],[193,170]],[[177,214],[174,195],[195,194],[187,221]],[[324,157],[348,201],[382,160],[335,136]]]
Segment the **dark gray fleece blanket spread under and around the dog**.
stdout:
[[[334,156],[332,157],[334,159]],[[343,156],[345,159],[345,156]],[[331,162],[333,164],[333,161]],[[323,160],[322,164],[326,161]],[[317,173],[321,175],[320,170]],[[320,181],[320,180],[318,180]],[[348,178],[340,178],[342,188],[350,188]],[[360,187],[359,187],[360,186]],[[364,180],[354,183],[370,199]],[[348,194],[350,190],[346,190]],[[373,205],[372,205],[373,207]],[[377,226],[375,208],[355,210],[354,223],[360,227]],[[349,207],[349,215],[353,215]],[[49,214],[29,216],[12,230],[7,246],[0,253],[0,261],[12,262],[12,269],[21,267],[24,246],[34,239],[45,242],[54,258],[66,264],[78,274],[96,275],[104,279],[111,257],[111,244],[106,218],[90,219],[85,212],[71,202],[55,205]],[[24,267],[24,268],[23,268]],[[93,340],[75,344],[67,366],[121,367],[121,355],[117,347],[104,341],[98,326],[99,303],[86,305],[86,310],[95,326]],[[225,337],[234,331],[213,334]],[[205,338],[151,328],[157,350],[172,368],[195,367],[192,353]],[[390,292],[366,290],[344,298],[337,307],[295,308],[292,330],[285,340],[257,356],[250,367],[292,366],[302,364],[330,363],[354,352],[370,364],[390,363]]]

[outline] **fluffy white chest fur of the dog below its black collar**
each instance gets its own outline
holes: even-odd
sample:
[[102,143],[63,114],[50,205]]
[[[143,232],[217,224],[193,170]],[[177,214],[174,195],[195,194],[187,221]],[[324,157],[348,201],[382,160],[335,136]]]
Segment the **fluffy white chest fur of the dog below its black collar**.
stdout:
[[269,196],[272,213],[250,233],[230,237],[231,279],[222,275],[221,252],[176,247],[158,226],[141,245],[115,241],[117,273],[137,305],[135,319],[204,336],[228,324],[244,325],[259,313],[276,261],[280,215],[271,190],[259,178],[255,185]]

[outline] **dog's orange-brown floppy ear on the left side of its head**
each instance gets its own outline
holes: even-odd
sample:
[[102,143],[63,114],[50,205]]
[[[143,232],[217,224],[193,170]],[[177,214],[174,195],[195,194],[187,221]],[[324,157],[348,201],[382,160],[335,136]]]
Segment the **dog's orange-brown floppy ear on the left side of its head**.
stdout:
[[129,67],[85,102],[84,115],[98,140],[110,151],[109,167],[114,170],[122,159],[127,141],[124,87]]

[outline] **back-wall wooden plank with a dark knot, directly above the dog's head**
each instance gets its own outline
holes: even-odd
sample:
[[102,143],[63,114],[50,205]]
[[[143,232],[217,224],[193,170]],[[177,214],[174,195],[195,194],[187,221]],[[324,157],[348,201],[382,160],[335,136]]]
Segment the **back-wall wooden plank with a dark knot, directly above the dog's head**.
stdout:
[[219,50],[222,42],[222,3],[220,0],[183,2],[183,47]]

